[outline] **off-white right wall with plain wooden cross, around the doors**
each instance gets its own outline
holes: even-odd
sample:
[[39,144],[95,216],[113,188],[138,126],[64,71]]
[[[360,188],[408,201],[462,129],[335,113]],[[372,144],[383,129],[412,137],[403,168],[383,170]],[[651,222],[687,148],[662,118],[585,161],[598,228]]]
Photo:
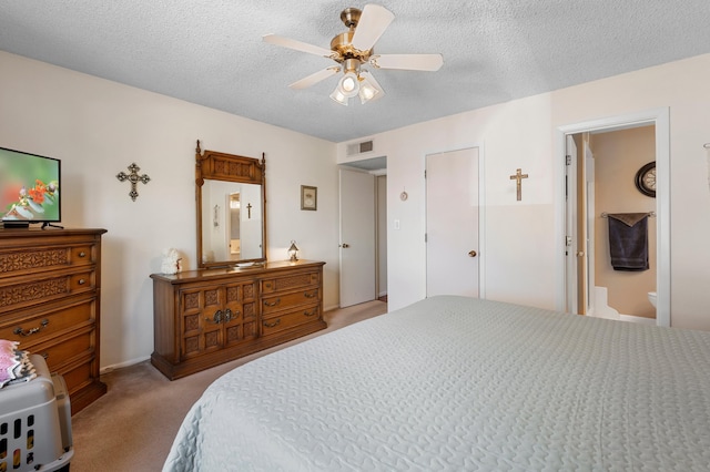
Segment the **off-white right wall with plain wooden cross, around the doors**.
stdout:
[[[562,126],[667,109],[670,116],[670,322],[710,330],[710,192],[703,144],[710,142],[710,54],[363,138],[387,156],[390,309],[426,296],[424,157],[480,146],[484,297],[556,308],[564,299],[564,162],[555,141]],[[338,162],[347,162],[347,143]],[[363,156],[372,157],[374,155]],[[509,175],[523,168],[523,201]],[[403,188],[409,198],[398,199]]]

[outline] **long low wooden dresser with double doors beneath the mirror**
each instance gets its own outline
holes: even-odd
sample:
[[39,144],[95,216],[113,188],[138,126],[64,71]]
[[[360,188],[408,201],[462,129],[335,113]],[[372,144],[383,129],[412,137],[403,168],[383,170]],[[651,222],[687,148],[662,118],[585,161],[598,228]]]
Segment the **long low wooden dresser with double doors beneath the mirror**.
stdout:
[[326,328],[324,264],[151,275],[153,366],[173,380]]

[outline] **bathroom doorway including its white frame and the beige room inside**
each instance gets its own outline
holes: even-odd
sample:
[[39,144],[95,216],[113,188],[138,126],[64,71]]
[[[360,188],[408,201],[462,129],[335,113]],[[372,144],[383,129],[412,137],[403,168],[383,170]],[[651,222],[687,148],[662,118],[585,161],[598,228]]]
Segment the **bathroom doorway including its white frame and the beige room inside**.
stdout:
[[[564,289],[572,314],[670,326],[668,110],[557,130],[564,173]],[[564,154],[562,154],[564,153]],[[656,165],[656,198],[636,178]],[[615,270],[609,214],[649,214],[648,270]],[[648,293],[657,293],[656,309]]]

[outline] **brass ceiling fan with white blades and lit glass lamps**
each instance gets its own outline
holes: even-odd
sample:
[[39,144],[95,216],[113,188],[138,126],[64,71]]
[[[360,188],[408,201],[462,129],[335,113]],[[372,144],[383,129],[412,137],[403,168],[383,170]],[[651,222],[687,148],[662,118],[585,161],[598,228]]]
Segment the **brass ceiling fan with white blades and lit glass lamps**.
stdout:
[[346,8],[341,13],[341,20],[348,31],[333,38],[331,49],[277,34],[265,34],[263,40],[271,44],[322,55],[338,63],[292,83],[288,85],[291,89],[306,89],[342,72],[343,76],[331,93],[331,99],[347,105],[351,98],[358,95],[364,104],[385,94],[367,70],[368,65],[374,69],[438,71],[444,63],[442,54],[375,54],[375,43],[394,18],[389,10],[377,4],[366,4],[362,11],[357,8]]

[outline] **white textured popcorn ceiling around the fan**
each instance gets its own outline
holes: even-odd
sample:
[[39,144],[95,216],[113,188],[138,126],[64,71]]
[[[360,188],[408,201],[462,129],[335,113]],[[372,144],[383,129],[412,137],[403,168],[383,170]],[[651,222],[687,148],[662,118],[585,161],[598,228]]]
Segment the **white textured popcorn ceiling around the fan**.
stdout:
[[[709,0],[381,0],[378,53],[442,53],[438,72],[375,70],[385,96],[333,102],[328,59],[349,0],[4,0],[0,50],[333,142],[710,52]],[[1,73],[1,71],[0,71]]]

